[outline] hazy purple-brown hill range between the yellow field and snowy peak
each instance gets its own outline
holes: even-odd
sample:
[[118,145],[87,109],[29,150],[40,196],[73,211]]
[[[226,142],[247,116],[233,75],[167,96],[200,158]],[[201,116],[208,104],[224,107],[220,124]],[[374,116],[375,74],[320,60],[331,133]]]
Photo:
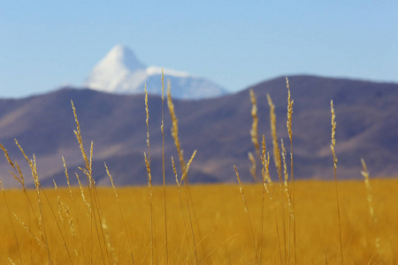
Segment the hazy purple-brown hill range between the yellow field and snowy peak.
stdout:
[[[397,84],[313,76],[294,76],[289,80],[295,100],[295,178],[333,178],[330,100],[334,102],[337,116],[338,177],[361,178],[361,157],[365,158],[372,176],[397,174]],[[258,133],[265,134],[267,146],[272,150],[266,95],[270,94],[276,105],[279,138],[288,142],[286,81],[285,78],[272,79],[252,88],[258,103]],[[73,134],[76,125],[71,100],[86,147],[94,141],[93,170],[97,183],[109,183],[103,167],[106,162],[117,185],[146,184],[143,95],[111,95],[73,88],[24,99],[0,100],[0,142],[9,149],[11,158],[19,162],[26,178],[30,179],[30,173],[14,138],[27,155],[35,154],[42,184],[52,185],[53,178],[65,184],[61,156],[65,156],[71,176],[74,172],[80,173],[77,167],[82,165],[82,159]],[[249,180],[248,152],[254,151],[249,136],[252,123],[249,90],[209,100],[173,102],[186,159],[197,149],[190,181],[235,181],[233,164],[241,171],[242,178]],[[157,184],[162,178],[160,123],[161,100],[149,96],[152,170]],[[170,128],[165,106],[166,178],[168,183],[173,183],[170,157],[177,155]],[[7,186],[15,185],[7,173],[9,169],[5,159],[0,159],[1,178]],[[273,169],[272,177],[276,178]]]

